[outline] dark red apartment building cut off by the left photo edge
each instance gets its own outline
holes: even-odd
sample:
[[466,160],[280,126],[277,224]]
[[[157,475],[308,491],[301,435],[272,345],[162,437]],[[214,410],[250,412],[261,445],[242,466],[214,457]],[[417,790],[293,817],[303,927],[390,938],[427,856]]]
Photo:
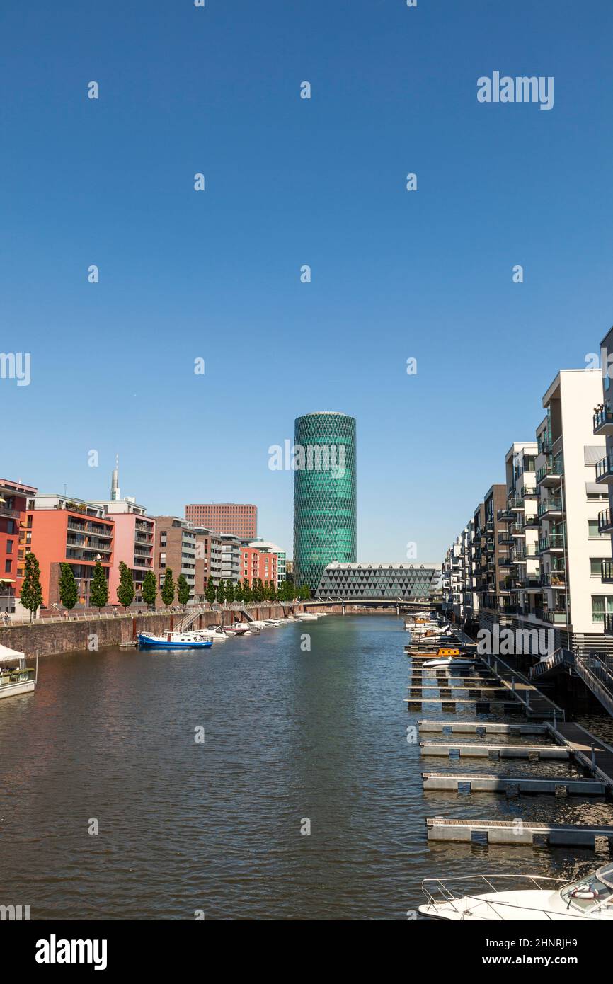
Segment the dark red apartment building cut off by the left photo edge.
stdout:
[[28,500],[37,489],[10,478],[0,478],[0,612],[19,611],[23,557],[19,557],[22,523],[26,521]]

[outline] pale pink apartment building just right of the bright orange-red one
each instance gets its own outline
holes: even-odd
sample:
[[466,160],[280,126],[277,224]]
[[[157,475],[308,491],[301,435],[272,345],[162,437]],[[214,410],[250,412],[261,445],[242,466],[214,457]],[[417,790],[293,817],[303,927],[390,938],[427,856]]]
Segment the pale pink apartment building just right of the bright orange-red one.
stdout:
[[115,549],[109,574],[109,603],[115,604],[119,587],[119,565],[130,569],[134,582],[134,603],[143,603],[143,582],[154,569],[155,521],[144,506],[133,499],[95,502],[115,523]]

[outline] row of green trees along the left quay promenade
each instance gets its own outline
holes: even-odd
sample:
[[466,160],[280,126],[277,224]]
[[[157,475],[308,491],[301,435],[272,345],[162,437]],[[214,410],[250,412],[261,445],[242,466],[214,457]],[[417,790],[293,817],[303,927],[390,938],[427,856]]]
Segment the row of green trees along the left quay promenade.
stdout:
[[[153,571],[147,571],[143,581],[143,601],[146,605],[153,607],[157,597],[157,582]],[[181,605],[187,604],[190,598],[190,587],[183,574],[180,574],[174,581],[172,569],[166,568],[164,580],[161,585],[160,597],[164,605],[171,605],[176,599]],[[60,565],[59,581],[60,601],[68,611],[77,604],[79,600],[79,588],[75,581],[70,564]],[[123,561],[119,563],[119,586],[117,587],[117,603],[128,608],[134,601],[136,588],[130,568]],[[274,582],[255,578],[252,584],[248,581],[231,582],[219,581],[215,584],[213,578],[209,578],[205,592],[207,601],[219,604],[233,601],[242,601],[248,604],[250,601],[292,601],[294,598],[309,598],[311,592],[306,584],[300,588],[295,588],[293,582],[282,581],[278,588]],[[20,593],[20,601],[30,611],[30,620],[36,609],[42,604],[42,586],[40,584],[40,567],[34,554],[26,554],[24,581]],[[92,584],[90,585],[90,603],[93,608],[104,608],[108,604],[108,582],[104,569],[99,561],[96,561],[93,568]]]

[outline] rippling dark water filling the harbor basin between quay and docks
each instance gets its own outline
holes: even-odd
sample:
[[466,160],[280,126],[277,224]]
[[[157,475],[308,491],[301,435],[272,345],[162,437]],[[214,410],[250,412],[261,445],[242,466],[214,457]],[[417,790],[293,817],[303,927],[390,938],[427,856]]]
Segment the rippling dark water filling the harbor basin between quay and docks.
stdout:
[[[38,690],[0,702],[0,903],[32,919],[405,919],[426,877],[570,880],[604,863],[428,843],[426,817],[611,824],[613,810],[424,794],[422,771],[577,773],[420,757],[407,726],[443,713],[407,711],[405,642],[402,619],[329,616],[205,651],[41,660]],[[460,718],[499,715],[445,713]],[[605,715],[583,723],[611,740]],[[544,739],[489,738],[524,740]]]

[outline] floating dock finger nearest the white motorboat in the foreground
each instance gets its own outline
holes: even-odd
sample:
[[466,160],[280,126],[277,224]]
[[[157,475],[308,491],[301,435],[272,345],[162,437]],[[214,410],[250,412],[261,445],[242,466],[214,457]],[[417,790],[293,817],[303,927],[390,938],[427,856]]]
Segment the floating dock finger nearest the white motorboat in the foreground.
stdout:
[[613,827],[591,827],[582,824],[527,824],[522,820],[448,820],[427,817],[428,840],[448,840],[458,843],[529,845],[533,847],[592,847],[605,846],[613,851]]

